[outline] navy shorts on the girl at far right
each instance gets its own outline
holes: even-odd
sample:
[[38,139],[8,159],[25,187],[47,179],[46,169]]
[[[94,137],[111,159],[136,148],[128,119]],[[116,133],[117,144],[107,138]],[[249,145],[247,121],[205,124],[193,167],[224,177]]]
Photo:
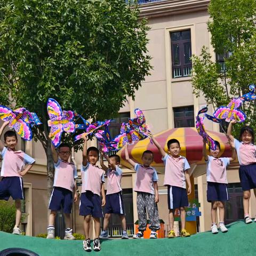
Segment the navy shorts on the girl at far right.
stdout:
[[256,188],[256,164],[241,165],[239,178],[243,191]]

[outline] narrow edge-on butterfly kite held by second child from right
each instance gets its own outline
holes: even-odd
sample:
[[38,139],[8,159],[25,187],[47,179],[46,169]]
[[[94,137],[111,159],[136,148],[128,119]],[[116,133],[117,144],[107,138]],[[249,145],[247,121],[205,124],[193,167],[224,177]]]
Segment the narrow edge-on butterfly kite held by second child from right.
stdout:
[[[196,129],[198,134],[204,139],[206,140],[209,148],[211,148],[212,150],[216,149],[216,143],[215,140],[213,140],[205,131],[204,128],[204,117],[201,117],[199,115],[206,113],[208,111],[208,108],[202,108],[201,110],[199,110],[197,116],[196,116]],[[213,122],[217,122],[220,123],[220,119],[212,117],[210,115],[204,114],[204,116],[206,116],[208,119],[210,119]]]

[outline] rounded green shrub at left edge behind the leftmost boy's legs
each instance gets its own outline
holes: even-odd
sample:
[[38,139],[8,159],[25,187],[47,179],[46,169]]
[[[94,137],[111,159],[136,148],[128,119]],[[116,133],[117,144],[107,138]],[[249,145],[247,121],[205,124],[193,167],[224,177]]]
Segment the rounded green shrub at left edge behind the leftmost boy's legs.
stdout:
[[0,201],[0,230],[12,233],[15,225],[16,208],[14,204]]

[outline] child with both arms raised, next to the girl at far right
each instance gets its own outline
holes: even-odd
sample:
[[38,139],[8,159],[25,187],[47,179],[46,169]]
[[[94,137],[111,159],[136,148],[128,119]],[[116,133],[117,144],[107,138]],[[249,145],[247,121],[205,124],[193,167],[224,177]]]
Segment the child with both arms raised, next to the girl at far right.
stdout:
[[220,157],[220,143],[215,141],[216,149],[210,149],[210,156],[206,153],[206,141],[203,140],[203,156],[206,162],[207,201],[211,202],[212,234],[218,233],[216,224],[217,209],[219,208],[219,227],[221,232],[227,232],[224,224],[225,201],[228,201],[227,170],[226,167],[236,159],[236,151],[232,144],[232,156]]

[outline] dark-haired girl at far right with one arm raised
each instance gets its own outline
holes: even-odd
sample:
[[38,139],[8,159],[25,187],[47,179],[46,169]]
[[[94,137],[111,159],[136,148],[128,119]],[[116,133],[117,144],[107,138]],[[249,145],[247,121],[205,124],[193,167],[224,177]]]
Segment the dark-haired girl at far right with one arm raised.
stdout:
[[[256,196],[256,146],[254,145],[254,131],[249,126],[242,127],[239,141],[231,135],[232,127],[236,121],[231,121],[228,126],[228,137],[235,143],[239,167],[239,178],[243,189],[244,222],[252,223],[249,216],[251,189]],[[254,219],[256,222],[256,218]]]

